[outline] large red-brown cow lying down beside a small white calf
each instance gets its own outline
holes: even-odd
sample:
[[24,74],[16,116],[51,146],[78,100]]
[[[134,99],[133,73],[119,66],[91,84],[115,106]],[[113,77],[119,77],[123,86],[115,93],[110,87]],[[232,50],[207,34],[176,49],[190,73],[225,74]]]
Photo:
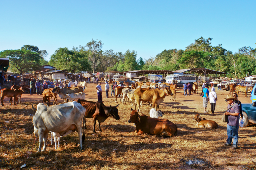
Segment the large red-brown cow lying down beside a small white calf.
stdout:
[[161,135],[173,137],[177,135],[177,126],[167,119],[156,119],[145,114],[139,115],[133,109],[128,123],[135,123],[135,133],[138,135],[148,133],[150,135]]

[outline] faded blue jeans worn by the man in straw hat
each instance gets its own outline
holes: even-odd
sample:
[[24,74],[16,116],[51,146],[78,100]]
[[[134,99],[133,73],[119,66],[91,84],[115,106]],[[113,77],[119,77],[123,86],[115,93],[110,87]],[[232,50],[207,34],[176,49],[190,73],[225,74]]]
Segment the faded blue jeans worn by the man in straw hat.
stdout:
[[238,128],[239,128],[239,126],[227,125],[227,135],[228,135],[228,139],[227,139],[227,143],[226,143],[227,145],[231,146],[232,138],[234,138],[234,140],[233,140],[233,147],[237,148]]

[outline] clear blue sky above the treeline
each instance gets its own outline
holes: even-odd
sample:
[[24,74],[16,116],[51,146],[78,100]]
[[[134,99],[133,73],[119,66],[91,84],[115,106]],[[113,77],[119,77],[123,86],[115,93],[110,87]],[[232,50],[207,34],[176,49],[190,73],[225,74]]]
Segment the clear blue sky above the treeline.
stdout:
[[103,50],[149,58],[201,36],[233,52],[256,47],[256,1],[1,1],[0,51],[101,40]]

